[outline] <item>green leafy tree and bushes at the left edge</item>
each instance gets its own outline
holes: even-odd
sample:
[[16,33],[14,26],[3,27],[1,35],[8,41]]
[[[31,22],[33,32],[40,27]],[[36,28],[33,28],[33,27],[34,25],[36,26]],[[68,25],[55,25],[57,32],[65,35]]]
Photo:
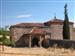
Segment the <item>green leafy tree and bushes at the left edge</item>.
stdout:
[[0,28],[0,35],[3,35],[3,37],[0,38],[0,42],[2,42],[4,45],[7,46],[15,45],[13,40],[6,38],[7,35],[10,36],[10,32],[7,30],[7,26],[5,28]]

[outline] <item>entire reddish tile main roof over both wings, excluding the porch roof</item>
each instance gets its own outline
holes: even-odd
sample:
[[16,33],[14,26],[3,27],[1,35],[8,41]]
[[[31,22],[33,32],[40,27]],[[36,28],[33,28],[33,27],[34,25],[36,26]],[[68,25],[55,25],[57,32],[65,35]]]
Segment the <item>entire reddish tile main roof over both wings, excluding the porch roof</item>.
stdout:
[[[63,24],[63,22],[64,20],[53,19],[45,23],[20,23],[20,24],[13,25],[11,27],[46,27],[46,26],[50,26],[51,24]],[[69,23],[73,24],[73,22],[69,22]]]

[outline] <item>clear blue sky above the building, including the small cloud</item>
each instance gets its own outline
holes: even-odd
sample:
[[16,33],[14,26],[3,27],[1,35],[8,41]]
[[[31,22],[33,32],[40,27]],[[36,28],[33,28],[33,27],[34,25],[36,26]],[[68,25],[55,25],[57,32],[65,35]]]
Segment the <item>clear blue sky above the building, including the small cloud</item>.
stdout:
[[56,15],[64,19],[64,5],[68,4],[68,17],[75,22],[75,0],[0,0],[0,26],[18,23],[46,22]]

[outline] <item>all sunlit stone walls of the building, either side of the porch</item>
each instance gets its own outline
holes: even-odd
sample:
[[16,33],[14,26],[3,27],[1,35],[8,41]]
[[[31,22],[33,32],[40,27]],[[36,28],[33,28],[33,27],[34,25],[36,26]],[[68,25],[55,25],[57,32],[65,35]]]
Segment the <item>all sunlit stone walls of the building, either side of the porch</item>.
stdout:
[[[62,29],[63,25],[61,24],[52,24],[48,26],[47,28],[42,28],[48,33],[50,33],[51,37],[50,39],[58,39],[63,40],[62,36]],[[17,28],[13,27],[10,29],[12,39],[17,41],[23,34],[29,33],[32,30],[32,28]],[[75,40],[75,32],[73,30],[73,25],[70,25],[70,40]]]

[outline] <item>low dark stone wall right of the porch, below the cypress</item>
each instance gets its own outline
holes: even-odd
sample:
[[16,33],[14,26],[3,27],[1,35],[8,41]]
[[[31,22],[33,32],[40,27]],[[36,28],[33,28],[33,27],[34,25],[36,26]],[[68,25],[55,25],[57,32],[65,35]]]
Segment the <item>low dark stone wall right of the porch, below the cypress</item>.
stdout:
[[49,40],[50,47],[75,48],[75,41],[72,40]]

